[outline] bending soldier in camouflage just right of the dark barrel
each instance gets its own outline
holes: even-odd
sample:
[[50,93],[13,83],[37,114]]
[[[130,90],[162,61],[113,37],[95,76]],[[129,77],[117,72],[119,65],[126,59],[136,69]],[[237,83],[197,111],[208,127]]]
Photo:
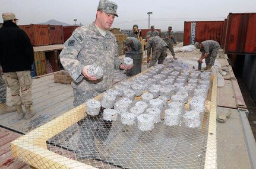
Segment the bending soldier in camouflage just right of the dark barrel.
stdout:
[[146,40],[147,63],[149,62],[152,48],[152,59],[150,61],[149,67],[154,66],[157,61],[158,64],[163,64],[167,51],[167,44],[165,43],[165,41],[163,41],[162,38],[160,38],[159,36],[150,37],[149,35],[146,36]]

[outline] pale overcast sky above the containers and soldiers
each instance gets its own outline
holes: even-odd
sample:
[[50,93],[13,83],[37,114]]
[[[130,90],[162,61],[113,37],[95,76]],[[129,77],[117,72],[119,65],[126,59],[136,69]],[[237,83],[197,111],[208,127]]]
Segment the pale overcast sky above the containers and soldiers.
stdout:
[[[118,4],[118,15],[112,27],[129,30],[150,25],[163,31],[169,25],[173,31],[183,31],[184,21],[223,21],[232,13],[256,12],[255,0],[113,0]],[[99,0],[0,0],[0,12],[13,12],[18,25],[38,24],[55,19],[67,24],[90,24],[96,17]],[[2,22],[2,19],[0,19]]]

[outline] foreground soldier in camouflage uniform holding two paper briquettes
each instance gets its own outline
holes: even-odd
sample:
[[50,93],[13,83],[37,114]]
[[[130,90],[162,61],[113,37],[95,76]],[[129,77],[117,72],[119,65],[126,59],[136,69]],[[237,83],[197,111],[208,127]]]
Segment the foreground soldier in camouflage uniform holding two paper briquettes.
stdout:
[[[125,67],[118,58],[118,44],[115,35],[109,30],[118,6],[112,1],[100,1],[96,20],[90,25],[78,27],[65,42],[61,51],[62,66],[73,79],[74,106],[81,105],[89,99],[99,95],[112,86],[114,69],[131,69]],[[89,76],[88,67],[96,63],[103,69],[103,76]],[[96,155],[96,140],[105,141],[109,132],[109,125],[98,116],[87,116],[80,125],[80,142],[78,142],[77,157],[93,158]],[[97,136],[97,138],[96,138]]]

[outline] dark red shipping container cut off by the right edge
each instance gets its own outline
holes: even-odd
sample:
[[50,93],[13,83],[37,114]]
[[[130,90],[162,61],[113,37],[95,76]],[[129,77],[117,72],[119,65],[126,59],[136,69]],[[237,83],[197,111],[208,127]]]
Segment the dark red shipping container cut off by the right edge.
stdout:
[[227,16],[225,53],[256,54],[256,13]]

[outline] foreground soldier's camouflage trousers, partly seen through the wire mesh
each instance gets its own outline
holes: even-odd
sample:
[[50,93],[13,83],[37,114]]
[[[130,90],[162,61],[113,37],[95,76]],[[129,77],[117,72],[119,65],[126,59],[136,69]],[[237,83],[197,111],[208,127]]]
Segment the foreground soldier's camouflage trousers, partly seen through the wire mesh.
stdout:
[[[82,91],[74,89],[74,106],[81,105],[89,99],[93,99],[104,91]],[[80,135],[78,137],[76,157],[94,158],[97,155],[95,139],[105,141],[108,137],[111,123],[103,120],[103,110],[97,116],[86,116],[78,121]]]

